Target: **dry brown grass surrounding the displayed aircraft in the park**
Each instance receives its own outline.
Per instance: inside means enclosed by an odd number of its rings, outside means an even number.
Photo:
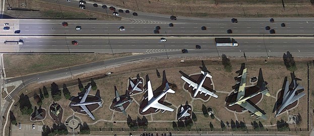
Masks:
[[[216,59],[216,58],[213,58]],[[307,67],[306,67],[306,59],[307,58],[295,58],[296,60],[296,64],[298,67],[298,70],[295,72],[295,75],[297,78],[302,79],[302,81],[298,81],[298,83],[302,86],[304,86],[306,88],[307,86]],[[283,62],[282,62],[282,58],[272,58],[268,61],[268,63],[265,63],[264,58],[250,58],[248,59],[248,61],[246,62],[246,68],[247,68],[247,77],[252,77],[252,76],[258,76],[258,72],[259,72],[259,68],[261,67],[263,70],[263,76],[264,76],[264,80],[266,82],[268,82],[268,88],[270,90],[270,93],[272,96],[274,96],[276,94],[276,92],[282,87],[282,83],[283,83],[283,79],[284,77],[288,77],[288,80],[290,79],[290,73],[289,71],[286,70],[286,68],[283,66]],[[307,59],[307,61],[311,60]],[[142,75],[146,75],[148,74],[150,77],[150,80],[152,81],[152,86],[153,89],[156,89],[158,86],[160,86],[162,78],[157,78],[156,76],[156,69],[159,70],[159,72],[161,72],[162,70],[166,71],[167,74],[167,80],[171,83],[175,83],[178,87],[178,91],[175,94],[167,94],[166,97],[166,101],[169,101],[170,103],[172,103],[175,106],[179,106],[180,104],[185,104],[186,101],[189,102],[189,104],[191,104],[193,106],[193,111],[194,112],[198,112],[196,113],[198,121],[196,122],[197,127],[201,127],[201,128],[209,128],[209,123],[212,122],[212,124],[214,125],[214,128],[220,128],[220,121],[218,119],[211,119],[210,117],[206,118],[204,117],[203,113],[202,113],[202,104],[205,104],[206,107],[212,107],[213,109],[215,109],[216,113],[215,116],[219,119],[222,119],[225,123],[228,121],[229,123],[231,122],[231,119],[236,121],[238,120],[240,121],[245,121],[246,124],[248,124],[248,128],[252,128],[252,126],[250,126],[250,122],[253,122],[255,120],[255,117],[249,117],[248,112],[242,113],[242,114],[236,114],[236,116],[234,115],[233,112],[227,111],[225,109],[225,102],[224,99],[227,96],[227,94],[219,94],[218,98],[211,98],[208,102],[203,102],[201,100],[194,100],[192,102],[191,97],[187,94],[187,92],[184,92],[182,90],[182,85],[183,82],[182,80],[179,78],[180,77],[180,73],[178,73],[179,70],[185,72],[186,74],[191,74],[194,72],[199,72],[199,65],[201,65],[201,61],[197,61],[197,60],[186,60],[184,63],[179,63],[179,59],[170,59],[167,61],[159,61],[159,59],[153,60],[154,63],[134,63],[134,64],[130,64],[130,65],[125,65],[125,66],[120,66],[120,67],[115,67],[114,69],[108,69],[108,70],[103,70],[100,71],[99,73],[104,73],[105,71],[111,71],[114,72],[113,74],[111,74],[108,77],[105,77],[103,79],[100,80],[96,80],[96,84],[97,84],[97,89],[100,90],[100,96],[102,97],[102,100],[104,100],[103,103],[103,107],[97,109],[96,111],[93,112],[94,116],[96,119],[105,119],[108,120],[109,122],[103,122],[103,121],[99,121],[98,123],[96,123],[95,125],[91,125],[91,128],[96,128],[96,127],[105,127],[105,128],[128,128],[126,123],[116,123],[116,124],[112,124],[111,122],[113,121],[126,121],[127,120],[127,116],[121,114],[121,113],[117,113],[114,112],[114,117],[113,117],[113,111],[109,110],[109,106],[111,104],[112,99],[114,98],[114,91],[113,91],[113,86],[117,86],[118,91],[122,94],[122,92],[124,92],[124,89],[127,88],[128,82],[127,79],[129,77],[135,77],[135,75],[137,75],[138,73],[142,76]],[[242,60],[237,60],[237,59],[233,59],[231,60],[232,66],[233,66],[233,70],[232,73],[226,73],[224,71],[222,71],[222,65],[218,64],[218,62],[212,62],[212,61],[205,61],[205,64],[207,65],[208,70],[211,72],[211,75],[213,76],[213,81],[215,84],[215,87],[217,90],[221,90],[221,91],[231,91],[231,86],[234,84],[234,79],[233,77],[237,76],[237,74],[235,74],[235,71],[237,71],[241,65],[243,61]],[[312,66],[312,64],[311,64]],[[98,72],[97,72],[98,73]],[[94,73],[94,74],[97,74]],[[311,79],[314,79],[314,75],[312,73],[313,70],[310,69],[310,73],[311,73]],[[224,76],[224,75],[229,75],[229,76]],[[143,76],[142,76],[143,77]],[[291,81],[291,79],[290,79]],[[146,81],[144,81],[146,82]],[[57,81],[56,84],[59,85],[59,88],[61,87],[62,83],[66,83],[65,81]],[[49,88],[49,84],[50,83],[45,83],[47,84],[46,87]],[[87,83],[83,83],[83,85],[86,85]],[[40,85],[42,86],[42,85]],[[39,85],[33,86],[33,87],[29,87],[28,88],[28,92],[25,92],[26,90],[24,90],[24,93],[30,93],[31,91],[38,91]],[[31,89],[30,89],[31,88]],[[77,92],[79,92],[78,86],[71,86],[68,87],[68,89],[71,92],[71,95],[77,95]],[[310,89],[312,89],[312,86],[310,86]],[[306,91],[306,90],[305,90]],[[23,92],[23,91],[22,91]],[[20,92],[20,93],[22,93]],[[91,91],[91,94],[96,93],[96,91]],[[32,93],[31,93],[32,94]],[[135,98],[136,101],[138,101],[139,103],[141,102],[141,100],[143,99],[143,94],[139,94],[139,95],[135,95],[132,96],[132,98]],[[275,96],[276,97],[276,96]],[[298,112],[301,114],[302,117],[302,121],[300,125],[297,125],[297,128],[306,128],[306,97],[304,96],[300,99],[299,101],[299,105],[292,109],[291,111],[289,111],[289,114],[297,114]],[[48,102],[49,100],[49,102]],[[33,101],[33,99],[31,98],[31,102]],[[272,113],[272,109],[273,109],[273,105],[275,103],[276,99],[272,98],[272,97],[266,97],[264,96],[262,101],[258,104],[258,106],[265,110],[265,112],[267,113],[268,119],[267,120],[263,120],[263,119],[258,119],[257,121],[261,121],[263,123],[263,125],[267,128],[276,128],[275,127],[271,127],[271,124],[276,124],[277,120],[283,119],[283,120],[288,120],[288,116],[287,114],[282,114],[279,117],[274,118],[274,114]],[[310,102],[313,101],[313,94],[310,94]],[[51,99],[45,99],[43,101],[43,107],[46,107],[46,105],[48,105],[48,103],[51,103]],[[66,119],[67,116],[72,115],[72,111],[69,110],[69,107],[67,105],[69,105],[69,100],[65,100],[64,97],[62,96],[62,99],[60,101],[58,101],[57,103],[61,103],[61,106],[64,107],[66,110],[65,112],[65,116],[63,117],[63,119]],[[35,104],[34,104],[35,105]],[[34,106],[33,105],[33,106]],[[128,107],[127,109],[127,113],[133,118],[136,119],[137,117],[142,118],[143,116],[140,115],[138,113],[138,108],[139,106],[134,102],[132,104],[130,104],[131,107]],[[173,106],[170,106],[171,108],[174,108]],[[68,110],[67,110],[68,109]],[[175,109],[176,111],[177,109]],[[313,107],[310,107],[310,111],[313,110]],[[19,108],[18,107],[14,107],[14,112],[17,113],[16,117],[17,118],[21,118],[21,122],[28,122],[29,117],[27,116],[22,116],[22,115],[18,115],[18,113],[20,113]],[[76,114],[78,116],[80,116],[84,121],[86,121],[87,123],[93,123],[94,121],[91,120],[90,118],[88,118],[87,115],[79,115]],[[312,115],[310,114],[310,120],[311,120]],[[111,118],[113,118],[111,120]],[[146,118],[148,120],[151,120],[151,115],[146,115]],[[165,112],[165,113],[161,113],[158,112],[156,114],[152,115],[152,118],[154,121],[158,121],[158,120],[175,120],[176,115],[175,112]],[[237,118],[237,119],[236,119]],[[46,124],[48,125],[52,125],[52,121],[50,118],[47,118],[48,120],[45,121]],[[50,119],[50,121],[49,121]],[[312,122],[312,121],[310,121]],[[156,125],[155,125],[156,124]],[[171,122],[164,122],[164,123],[149,123],[149,128],[164,128],[164,127],[170,127],[171,128],[172,124]],[[192,126],[192,127],[195,127]],[[290,128],[293,128],[293,125],[290,125]]]

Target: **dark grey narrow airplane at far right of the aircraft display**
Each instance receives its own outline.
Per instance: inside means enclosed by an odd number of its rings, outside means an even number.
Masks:
[[[282,112],[282,110],[284,110],[288,105],[294,103],[295,101],[299,100],[301,97],[305,95],[305,93],[303,92],[304,87],[296,83],[296,81],[300,81],[300,79],[295,78],[294,72],[290,73],[290,75],[292,80],[290,85],[289,81],[287,80],[287,77],[285,77],[284,80],[284,84],[282,87],[284,89],[282,101],[278,99],[277,102],[275,103],[273,109],[273,113],[277,111],[275,117],[277,117]],[[278,107],[278,105],[280,106]]]

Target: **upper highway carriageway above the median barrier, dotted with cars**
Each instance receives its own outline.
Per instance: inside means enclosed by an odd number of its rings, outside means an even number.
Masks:
[[[308,19],[309,20],[309,19]],[[310,19],[312,20],[312,19]],[[68,26],[61,25],[68,22]],[[10,23],[10,30],[0,30],[1,35],[313,35],[314,21],[306,20],[283,20],[270,23],[267,19],[260,18],[247,19],[231,23],[230,19],[213,19],[211,21],[184,23],[184,22],[158,22],[148,20],[125,20],[125,21],[96,21],[96,20],[2,20],[2,23]],[[173,27],[169,27],[173,23]],[[285,27],[281,27],[285,23]],[[76,30],[76,26],[81,26],[82,30]],[[125,31],[119,31],[123,26]],[[159,34],[154,34],[155,27],[159,26]],[[205,26],[206,30],[201,27]],[[275,34],[270,34],[265,27],[269,26],[275,30]],[[227,34],[231,29],[232,34]],[[20,34],[15,34],[16,30],[21,30]]]

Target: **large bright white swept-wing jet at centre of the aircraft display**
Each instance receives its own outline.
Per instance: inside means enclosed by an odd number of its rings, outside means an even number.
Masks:
[[[163,71],[163,76],[164,76],[164,78],[166,77],[165,71]],[[147,79],[148,79],[148,75],[147,75]],[[143,108],[142,113],[147,111],[149,108],[156,108],[155,112],[158,109],[164,110],[163,112],[165,112],[166,110],[172,112],[174,110],[174,109],[169,108],[169,107],[167,107],[167,106],[165,106],[163,104],[158,103],[158,101],[162,97],[164,97],[167,93],[172,93],[172,94],[175,93],[175,91],[170,89],[168,81],[166,81],[166,87],[165,87],[164,91],[159,96],[154,97],[151,81],[148,79],[148,82],[147,82],[147,92],[148,92],[148,104]]]

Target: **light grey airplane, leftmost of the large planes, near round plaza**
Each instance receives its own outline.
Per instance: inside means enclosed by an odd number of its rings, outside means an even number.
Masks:
[[[102,107],[102,105],[101,105],[102,101],[100,100],[100,101],[97,101],[97,102],[85,102],[85,100],[86,100],[86,98],[87,98],[91,88],[92,88],[92,85],[89,83],[89,87],[88,87],[88,89],[85,89],[85,94],[84,94],[83,98],[80,97],[80,99],[81,99],[80,103],[71,104],[71,106],[81,106],[81,108],[83,109],[83,110],[81,110],[81,112],[85,111],[89,115],[89,117],[91,117],[93,120],[95,120],[95,117],[88,110],[86,105],[91,105],[91,104],[96,104],[97,103],[97,104],[99,104],[100,107]]]

